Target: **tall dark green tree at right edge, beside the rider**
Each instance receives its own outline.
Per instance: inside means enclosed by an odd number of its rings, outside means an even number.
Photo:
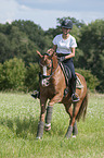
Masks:
[[[104,78],[104,21],[96,20],[81,28],[79,49],[83,54],[79,57],[79,66],[91,70],[100,80],[102,87]],[[102,89],[103,90],[103,89]]]

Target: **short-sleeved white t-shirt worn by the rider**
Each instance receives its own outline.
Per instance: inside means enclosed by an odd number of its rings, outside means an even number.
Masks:
[[[75,37],[69,35],[67,39],[63,39],[63,34],[56,35],[54,37],[53,45],[57,46],[57,53],[72,53],[72,48],[77,47]]]

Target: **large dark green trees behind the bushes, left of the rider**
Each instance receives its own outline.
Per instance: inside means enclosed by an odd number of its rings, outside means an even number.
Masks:
[[[11,25],[0,25],[0,62],[17,57],[26,65],[38,62],[36,50],[46,52],[52,47],[50,36],[30,21],[14,21]]]

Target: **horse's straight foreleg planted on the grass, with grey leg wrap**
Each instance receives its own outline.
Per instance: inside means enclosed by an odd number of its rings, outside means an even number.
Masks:
[[[43,127],[44,127],[44,114],[46,114],[46,102],[40,102],[41,106],[41,112],[40,112],[40,121],[38,123],[38,130],[37,130],[37,137],[38,139],[42,138],[43,135]]]

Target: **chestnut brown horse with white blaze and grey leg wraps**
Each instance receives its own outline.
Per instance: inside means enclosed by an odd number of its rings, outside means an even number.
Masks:
[[[76,104],[72,101],[72,90],[64,96],[64,89],[66,88],[65,76],[58,64],[56,53],[53,49],[50,49],[43,56],[37,51],[40,58],[40,120],[38,123],[37,138],[41,138],[43,135],[43,127],[46,131],[51,130],[52,109],[54,104],[63,104],[66,112],[69,114],[69,126],[67,129],[66,137],[69,138],[76,136],[78,133],[76,120],[79,121],[81,116],[86,117],[88,106],[88,93],[86,80],[82,75],[76,73],[79,77],[82,88],[76,89],[80,100]],[[48,107],[47,107],[47,101]],[[74,107],[73,107],[74,105]],[[47,113],[46,113],[47,111]],[[46,120],[46,124],[44,124]]]

